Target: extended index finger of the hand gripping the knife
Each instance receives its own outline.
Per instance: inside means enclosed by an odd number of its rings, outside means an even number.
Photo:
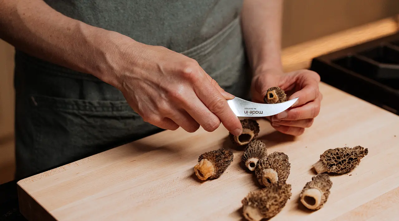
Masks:
[[[220,119],[228,131],[233,135],[241,135],[243,131],[241,122],[227,104],[226,99],[209,80],[196,82],[194,91],[199,100]]]

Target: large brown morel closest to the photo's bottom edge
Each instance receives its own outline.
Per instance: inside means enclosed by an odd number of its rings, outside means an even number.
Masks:
[[[249,221],[274,217],[291,197],[290,184],[272,184],[268,188],[250,192],[242,201],[243,215]]]

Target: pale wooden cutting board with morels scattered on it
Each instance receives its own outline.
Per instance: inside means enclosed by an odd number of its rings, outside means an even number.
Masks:
[[[284,152],[291,163],[292,197],[273,221],[397,220],[399,215],[399,117],[326,84],[322,110],[299,137],[276,132],[259,120],[268,153]],[[218,179],[201,182],[198,156],[231,148],[221,126],[164,131],[18,182],[20,209],[32,220],[243,220],[241,199],[259,188],[240,164],[242,151]],[[310,212],[298,204],[312,164],[326,149],[361,145],[369,149],[352,172],[332,176],[324,207]]]

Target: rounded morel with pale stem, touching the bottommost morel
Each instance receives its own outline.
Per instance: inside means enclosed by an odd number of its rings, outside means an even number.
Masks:
[[[291,164],[284,153],[274,152],[259,160],[255,166],[255,175],[262,186],[273,183],[283,184],[290,175]]]

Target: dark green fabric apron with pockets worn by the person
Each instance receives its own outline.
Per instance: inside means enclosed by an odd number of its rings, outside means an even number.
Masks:
[[[196,59],[227,92],[249,99],[241,0],[46,2],[71,18]],[[21,51],[15,61],[17,179],[162,131],[92,75]]]

